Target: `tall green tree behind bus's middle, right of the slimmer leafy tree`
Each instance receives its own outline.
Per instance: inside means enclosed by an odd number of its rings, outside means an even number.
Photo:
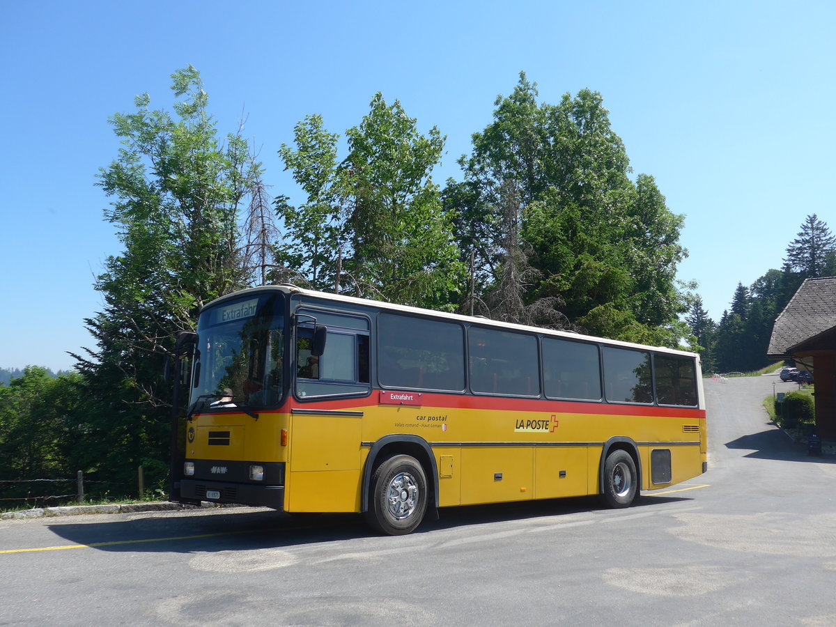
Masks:
[[[445,138],[435,126],[422,135],[400,102],[386,104],[381,94],[346,135],[356,291],[445,308],[463,276],[452,222],[431,178]]]

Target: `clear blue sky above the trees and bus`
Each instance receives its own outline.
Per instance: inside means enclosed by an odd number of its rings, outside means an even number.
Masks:
[[[833,211],[836,4],[775,2],[82,2],[0,0],[3,181],[0,367],[66,369],[92,344],[92,288],[119,252],[94,186],[135,94],[171,108],[193,64],[224,133],[260,149],[273,194],[298,194],[276,150],[319,113],[343,134],[382,91],[447,154],[490,121],[520,70],[540,98],[604,96],[635,174],[686,216],[683,280],[713,319],[738,282],[780,268],[805,216]]]

